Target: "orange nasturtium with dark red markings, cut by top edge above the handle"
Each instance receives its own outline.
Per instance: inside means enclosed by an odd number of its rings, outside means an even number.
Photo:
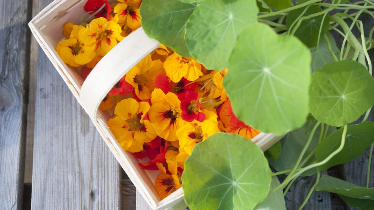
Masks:
[[[119,17],[118,23],[126,22],[126,25],[135,30],[141,25],[141,17],[139,13],[139,7],[141,0],[118,0],[123,2],[119,3],[114,7],[114,13]]]

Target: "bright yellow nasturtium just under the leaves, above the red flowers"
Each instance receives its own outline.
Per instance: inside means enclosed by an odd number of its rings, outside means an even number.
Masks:
[[[202,76],[201,65],[194,59],[182,57],[174,52],[163,63],[163,67],[171,81],[179,82],[183,77],[194,81]]]

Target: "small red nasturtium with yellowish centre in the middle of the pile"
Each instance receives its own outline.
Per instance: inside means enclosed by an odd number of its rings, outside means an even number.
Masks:
[[[202,112],[203,109],[195,91],[186,93],[186,98],[181,101],[181,110],[181,117],[187,122],[192,122],[193,120],[203,122],[205,120],[205,114]]]

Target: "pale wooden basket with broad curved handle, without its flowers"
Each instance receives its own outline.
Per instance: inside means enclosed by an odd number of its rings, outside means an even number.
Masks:
[[[143,29],[139,28],[109,51],[84,81],[76,68],[66,65],[61,60],[55,47],[64,38],[62,25],[65,22],[78,23],[85,13],[83,6],[86,1],[53,1],[30,21],[31,32],[149,206],[152,209],[172,207],[183,200],[183,189],[180,188],[160,200],[154,187],[157,173],[142,169],[139,166],[139,160],[122,149],[108,128],[107,122],[110,115],[98,110],[100,102],[114,84],[160,43],[148,38]],[[274,134],[260,133],[252,141],[264,151],[280,138]]]

